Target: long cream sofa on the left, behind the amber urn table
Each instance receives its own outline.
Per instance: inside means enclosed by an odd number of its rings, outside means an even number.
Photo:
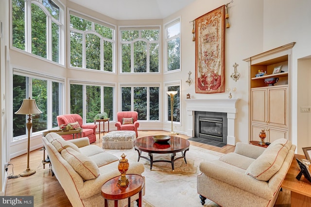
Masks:
[[[87,137],[65,141],[51,132],[42,140],[51,160],[52,171],[72,206],[103,207],[101,188],[104,182],[120,175],[119,159],[97,145],[90,145]],[[127,174],[141,175],[143,172],[143,164],[135,162],[130,163]],[[131,197],[132,201],[137,199],[138,194]],[[127,202],[127,199],[123,199],[119,201],[119,206],[124,207]],[[110,206],[113,206],[113,201],[109,201]]]

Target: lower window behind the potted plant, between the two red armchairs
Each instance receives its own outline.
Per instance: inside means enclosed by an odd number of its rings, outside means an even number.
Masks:
[[[70,113],[83,117],[85,123],[94,122],[97,113],[106,112],[113,120],[114,87],[91,84],[70,84]]]

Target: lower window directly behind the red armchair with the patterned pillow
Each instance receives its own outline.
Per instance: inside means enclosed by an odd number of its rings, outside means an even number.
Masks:
[[[122,111],[137,111],[138,120],[159,120],[159,86],[121,86]]]

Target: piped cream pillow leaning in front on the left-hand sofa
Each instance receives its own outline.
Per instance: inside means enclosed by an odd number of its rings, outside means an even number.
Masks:
[[[61,152],[62,157],[68,161],[72,168],[84,179],[91,180],[100,175],[96,163],[87,156],[67,147]]]

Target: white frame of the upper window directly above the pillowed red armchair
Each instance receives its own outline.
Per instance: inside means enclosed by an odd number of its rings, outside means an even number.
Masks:
[[[159,31],[159,39],[156,41],[148,41],[141,37],[138,37],[132,41],[122,41],[121,31],[142,31],[142,30],[158,30]],[[119,42],[119,73],[120,74],[160,74],[161,73],[161,25],[149,25],[149,26],[119,26],[118,28],[118,42]],[[146,72],[134,72],[134,43],[138,41],[143,41],[147,43],[147,68]],[[131,45],[131,72],[126,73],[122,72],[122,44],[129,43]],[[158,71],[157,72],[150,72],[150,44],[158,44]]]

